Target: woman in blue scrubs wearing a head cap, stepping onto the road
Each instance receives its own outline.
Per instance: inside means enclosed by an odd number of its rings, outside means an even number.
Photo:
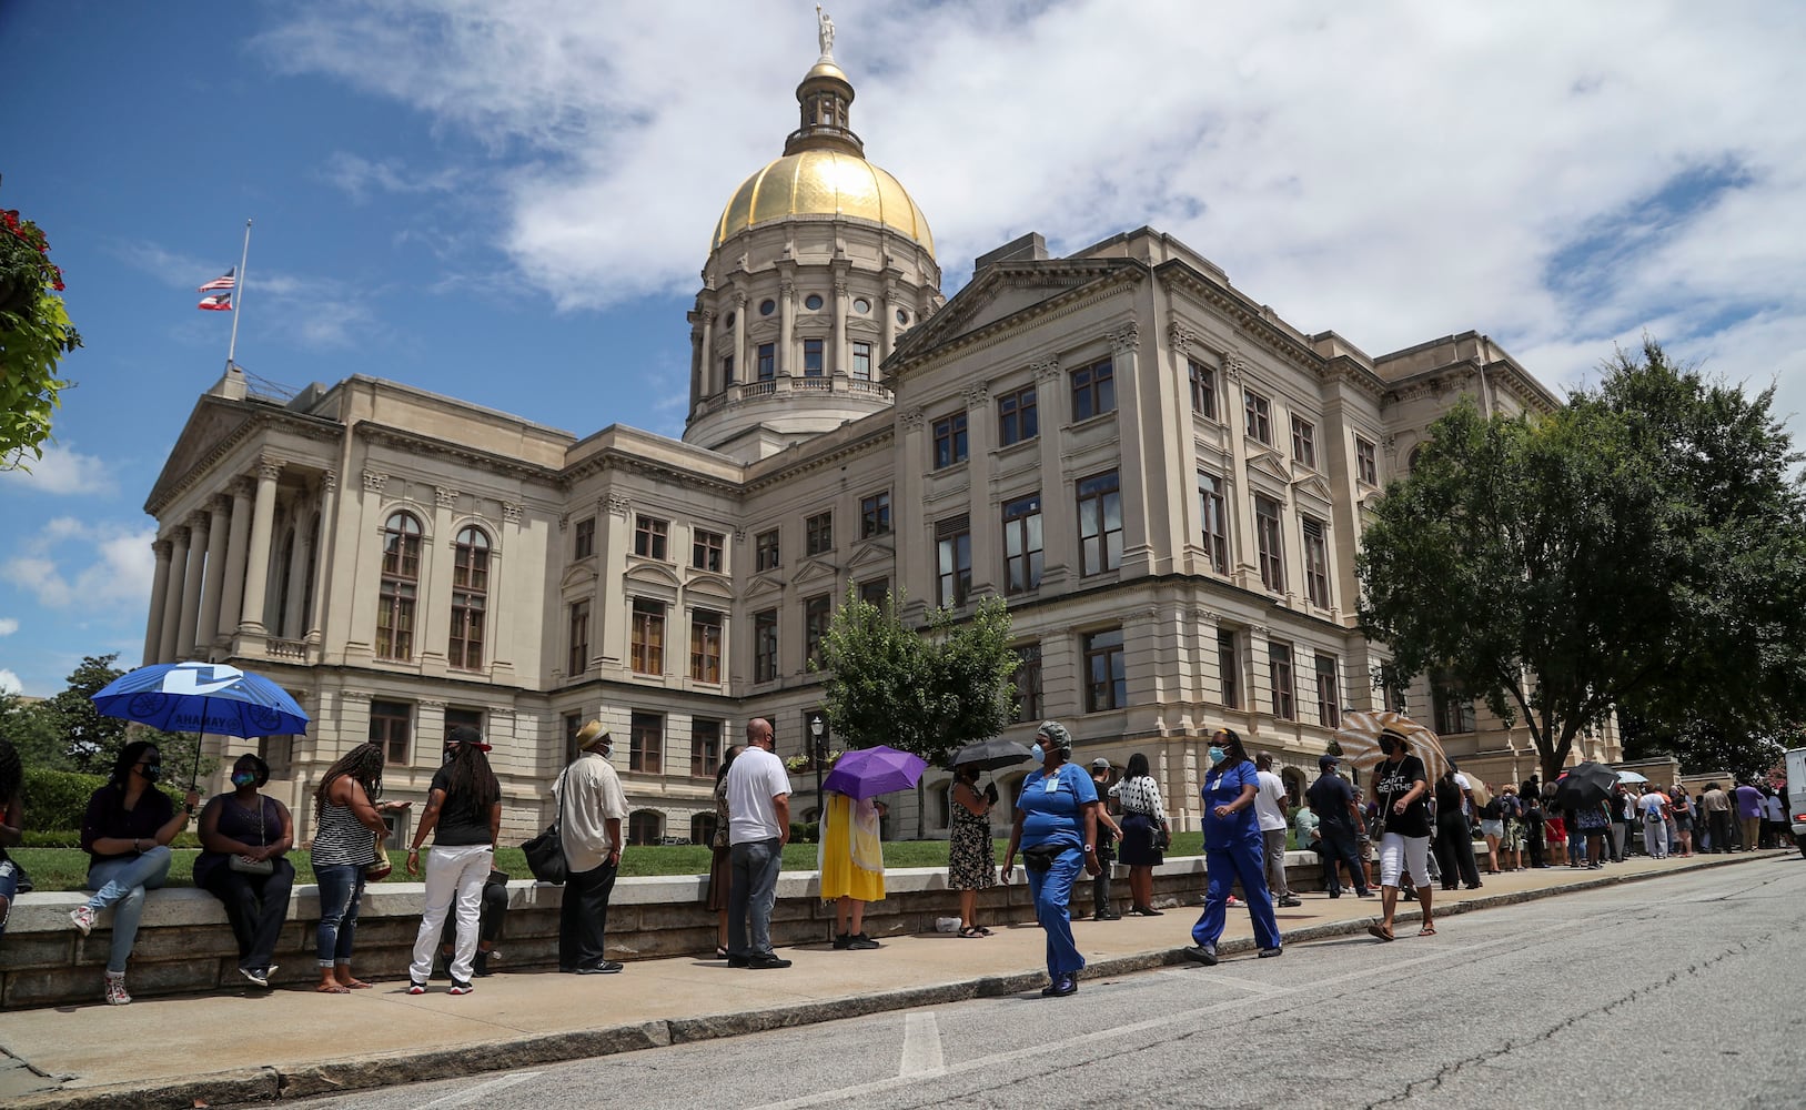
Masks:
[[[1035,919],[1047,933],[1047,998],[1066,998],[1078,989],[1085,957],[1073,942],[1073,919],[1066,904],[1073,895],[1078,868],[1098,874],[1098,789],[1084,769],[1075,767],[1073,735],[1058,720],[1042,722],[1035,733],[1040,771],[1022,780],[1010,850],[1004,852],[1002,881],[1010,881],[1017,848],[1028,872],[1028,890],[1035,895]]]

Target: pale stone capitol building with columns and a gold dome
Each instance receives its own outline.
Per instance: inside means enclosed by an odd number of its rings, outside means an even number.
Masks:
[[[144,505],[144,662],[231,662],[296,695],[312,731],[224,751],[264,753],[302,841],[352,745],[385,745],[386,796],[423,798],[446,729],[475,724],[517,843],[592,717],[632,841],[703,839],[751,717],[805,753],[807,661],[849,588],[899,592],[912,623],[1004,597],[1006,735],[1053,717],[1082,762],[1147,753],[1181,828],[1210,729],[1297,791],[1340,713],[1378,706],[1385,646],[1354,619],[1365,513],[1459,399],[1559,399],[1483,334],[1369,356],[1300,330],[1150,227],[1062,258],[1026,235],[948,298],[928,215],[865,159],[829,47],[782,155],[713,217],[681,440],[365,375],[284,399],[228,368],[195,402]],[[1528,731],[1461,691],[1398,698],[1485,778],[1535,769]],[[1616,756],[1609,733],[1584,747]],[[945,778],[887,834],[946,836]],[[796,785],[809,818],[813,772]]]

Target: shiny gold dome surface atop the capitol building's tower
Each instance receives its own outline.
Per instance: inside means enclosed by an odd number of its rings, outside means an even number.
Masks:
[[[710,249],[755,224],[804,215],[852,217],[883,224],[934,254],[928,220],[898,179],[861,157],[838,150],[791,153],[748,177],[721,213]]]

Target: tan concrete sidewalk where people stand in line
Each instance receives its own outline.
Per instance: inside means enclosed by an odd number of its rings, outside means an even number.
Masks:
[[[1438,919],[1790,854],[1634,857],[1602,872],[1560,866],[1485,875],[1483,890],[1438,890]],[[1279,915],[1284,958],[1309,960],[1306,942],[1364,931],[1378,902],[1353,893],[1304,895],[1302,908]],[[1196,915],[1196,906],[1176,906],[1163,917],[1075,922],[1091,964],[1085,978],[1181,962]],[[1409,913],[1400,906],[1405,920],[1416,920],[1416,902]],[[1459,931],[1454,924],[1441,935]],[[1400,928],[1401,939],[1412,933]],[[1224,955],[1252,948],[1248,915],[1232,910]],[[811,944],[780,955],[795,966],[739,971],[712,958],[666,958],[632,962],[607,976],[500,973],[477,980],[477,991],[461,998],[446,994],[444,980],[424,996],[410,996],[401,976],[352,994],[284,989],[5,1013],[0,1103],[126,1108],[273,1101],[945,1005],[1038,991],[1047,982],[1042,931],[1031,924],[982,940],[932,933],[889,937],[880,951]]]

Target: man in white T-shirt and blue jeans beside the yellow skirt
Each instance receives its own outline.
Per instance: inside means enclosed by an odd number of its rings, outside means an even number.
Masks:
[[[789,967],[771,951],[771,908],[789,843],[789,774],[771,754],[771,722],[746,722],[746,751],[728,767],[728,850],[733,883],[728,893],[728,966]],[[751,937],[748,937],[751,933]]]

